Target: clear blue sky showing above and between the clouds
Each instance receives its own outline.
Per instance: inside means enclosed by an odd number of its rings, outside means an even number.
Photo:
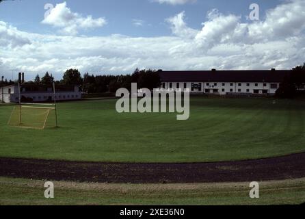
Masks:
[[[43,20],[44,5],[51,3],[56,5],[63,1],[52,0],[17,0],[7,1],[0,5],[0,20],[11,23],[23,31],[33,31],[40,34],[48,34],[54,29],[41,24]],[[85,2],[85,3],[84,3]],[[224,14],[233,13],[245,16],[250,12],[249,5],[253,0],[199,0],[196,3],[183,5],[160,4],[150,0],[67,0],[67,6],[72,12],[92,15],[93,18],[104,17],[107,25],[103,28],[84,31],[81,34],[87,36],[107,36],[110,34],[122,34],[127,36],[168,36],[171,34],[170,27],[165,19],[185,11],[189,27],[200,28],[201,23],[206,21],[209,10],[217,8]],[[274,8],[280,1],[261,0],[255,1],[260,5],[261,11]],[[14,16],[12,16],[14,14]],[[263,16],[263,14],[262,14]],[[133,25],[133,20],[144,21],[143,26]]]

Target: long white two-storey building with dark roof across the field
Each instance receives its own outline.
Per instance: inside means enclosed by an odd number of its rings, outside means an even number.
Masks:
[[[185,70],[158,71],[161,88],[202,94],[274,95],[291,70]]]

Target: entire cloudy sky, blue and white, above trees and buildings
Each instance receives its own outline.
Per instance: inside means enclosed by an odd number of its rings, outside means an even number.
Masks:
[[[304,21],[304,0],[3,1],[0,75],[287,69],[305,62]]]

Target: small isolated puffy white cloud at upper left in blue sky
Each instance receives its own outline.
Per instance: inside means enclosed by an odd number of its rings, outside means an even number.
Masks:
[[[76,35],[82,29],[103,27],[107,21],[105,18],[94,19],[91,15],[84,17],[81,14],[71,12],[70,8],[66,6],[66,2],[64,2],[58,3],[42,23],[60,28],[62,34]]]

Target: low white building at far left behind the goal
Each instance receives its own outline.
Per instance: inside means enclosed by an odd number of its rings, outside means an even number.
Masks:
[[[21,101],[24,102],[51,102],[54,101],[52,86],[38,86],[26,84],[21,86]],[[81,99],[79,86],[56,86],[56,101],[72,101]],[[18,103],[18,85],[0,88],[0,101],[3,103]]]

